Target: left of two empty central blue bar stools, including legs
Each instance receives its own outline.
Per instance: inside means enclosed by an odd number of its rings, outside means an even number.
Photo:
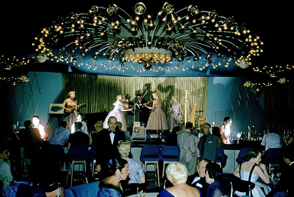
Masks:
[[[158,186],[160,186],[159,183],[159,165],[158,161],[160,161],[160,145],[145,145],[141,149],[141,154],[140,154],[140,161],[141,161],[141,166],[143,167],[144,163],[144,172],[146,172],[146,166],[148,164],[153,164],[154,165],[154,177],[157,177],[158,181]],[[157,173],[156,173],[157,171]],[[155,181],[156,185],[156,179],[148,179],[148,181]]]

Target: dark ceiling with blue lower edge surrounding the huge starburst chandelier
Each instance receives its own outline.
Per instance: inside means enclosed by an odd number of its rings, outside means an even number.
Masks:
[[[42,28],[48,26],[58,16],[68,16],[71,12],[85,12],[92,5],[107,6],[108,4],[116,4],[117,6],[131,12],[133,6],[143,2],[146,5],[147,13],[156,15],[166,1],[108,1],[99,3],[78,1],[7,1],[7,6],[1,6],[1,48],[0,55],[13,56],[24,55],[30,56],[34,54],[34,48],[31,43],[39,34]],[[70,65],[70,69],[74,73],[93,73],[102,75],[125,75],[125,76],[162,76],[162,77],[177,77],[177,76],[250,76],[254,77],[256,72],[252,72],[252,68],[264,65],[293,65],[291,46],[293,46],[293,38],[291,33],[291,23],[293,20],[292,7],[288,1],[279,1],[275,4],[268,4],[257,1],[169,1],[176,10],[183,7],[195,4],[200,10],[216,10],[221,16],[234,16],[235,21],[244,23],[246,27],[260,36],[264,42],[263,50],[260,57],[252,61],[252,65],[246,69],[237,66],[228,68],[210,69],[199,71],[198,68],[189,69],[185,72],[180,70],[166,71],[145,71],[145,73],[131,72],[131,69],[123,72],[117,70],[101,70],[95,71],[87,69],[86,66],[77,67]],[[182,3],[183,2],[183,3]],[[266,5],[265,5],[266,4]],[[32,60],[34,62],[34,60]],[[44,63],[33,63],[26,65],[23,68],[17,68],[9,72],[29,72],[29,71],[44,71],[44,72],[60,72],[67,73],[69,65],[57,64],[51,61]],[[209,74],[209,75],[207,75]]]

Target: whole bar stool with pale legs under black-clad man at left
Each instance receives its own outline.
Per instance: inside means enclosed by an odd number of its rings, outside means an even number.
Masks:
[[[71,170],[71,186],[73,182],[74,176],[74,166],[75,165],[82,165],[82,175],[83,179],[75,179],[75,180],[83,180],[84,183],[87,183],[86,179],[86,163],[89,161],[89,149],[88,145],[71,145],[69,149],[69,169],[67,171],[66,177],[66,186],[69,179],[69,171]]]

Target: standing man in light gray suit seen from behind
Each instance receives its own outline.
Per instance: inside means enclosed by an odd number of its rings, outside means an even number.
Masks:
[[[180,162],[188,169],[188,176],[191,176],[197,169],[197,157],[199,149],[195,143],[195,136],[191,134],[192,122],[186,122],[186,130],[179,133],[177,140],[180,147]]]

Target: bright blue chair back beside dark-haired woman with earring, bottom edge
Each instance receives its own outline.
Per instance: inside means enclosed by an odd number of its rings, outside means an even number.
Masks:
[[[97,196],[100,181],[84,183],[64,190],[64,197],[92,197]]]

